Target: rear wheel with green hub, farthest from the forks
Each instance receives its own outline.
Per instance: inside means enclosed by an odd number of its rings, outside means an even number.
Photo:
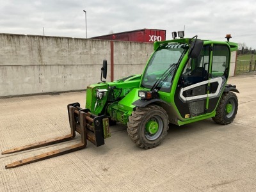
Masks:
[[[217,124],[227,125],[233,122],[238,109],[237,96],[233,92],[224,92],[221,96],[216,115],[212,120]]]

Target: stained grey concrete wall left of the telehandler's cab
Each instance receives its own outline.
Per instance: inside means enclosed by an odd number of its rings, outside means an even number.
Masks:
[[[140,74],[152,44],[114,42],[114,79]],[[83,90],[100,81],[110,42],[83,38],[0,34],[0,97]]]

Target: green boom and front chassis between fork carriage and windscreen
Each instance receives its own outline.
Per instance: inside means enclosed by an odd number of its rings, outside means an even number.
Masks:
[[[86,108],[90,109],[95,115],[108,115],[112,120],[127,124],[128,118],[135,107],[132,105],[132,102],[140,99],[138,97],[140,81],[141,75],[134,75],[124,80],[120,79],[109,83],[91,84],[86,90]],[[96,94],[98,89],[109,90],[113,86],[122,89],[122,92],[118,94],[118,99],[111,100],[109,103],[107,103],[108,97],[97,99]]]

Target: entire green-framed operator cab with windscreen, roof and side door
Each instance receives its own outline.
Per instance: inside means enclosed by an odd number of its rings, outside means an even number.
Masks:
[[[139,91],[139,97],[165,103],[174,98],[172,102],[182,121],[212,113],[228,79],[227,42],[203,41],[195,36],[155,44],[156,50],[141,78],[144,90]]]

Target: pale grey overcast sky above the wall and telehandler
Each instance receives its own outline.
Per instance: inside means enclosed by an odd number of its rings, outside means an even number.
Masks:
[[[0,0],[0,33],[24,35],[107,35],[136,29],[185,28],[185,36],[244,43],[256,49],[256,3],[254,0]],[[43,29],[44,28],[44,29]]]

